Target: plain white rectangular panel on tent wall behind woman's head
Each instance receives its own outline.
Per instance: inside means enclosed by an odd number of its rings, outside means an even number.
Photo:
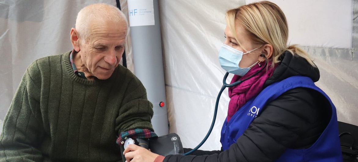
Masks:
[[[246,3],[258,0],[246,0]],[[290,44],[352,47],[351,0],[270,0],[280,6],[289,25]]]

